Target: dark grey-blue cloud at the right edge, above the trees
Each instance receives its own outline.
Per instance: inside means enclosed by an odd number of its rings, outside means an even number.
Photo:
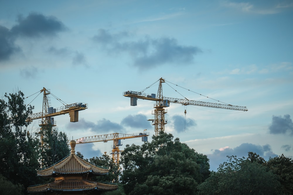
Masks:
[[[271,134],[293,135],[293,122],[289,114],[282,116],[272,116],[272,124],[269,127]]]

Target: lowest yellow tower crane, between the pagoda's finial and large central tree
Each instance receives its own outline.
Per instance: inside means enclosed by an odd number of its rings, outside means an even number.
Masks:
[[[144,131],[146,131],[146,129]],[[113,149],[110,154],[112,154],[114,163],[119,165],[120,152],[122,152],[119,149],[120,146],[122,146],[121,139],[142,137],[142,141],[147,141],[147,136],[149,136],[149,132],[132,133],[132,134],[112,133],[112,134],[105,134],[105,135],[82,137],[82,138],[76,139],[75,141],[76,141],[76,144],[84,144],[84,143],[91,143],[91,142],[98,142],[98,141],[107,142],[107,141],[113,140],[113,146],[112,146]]]

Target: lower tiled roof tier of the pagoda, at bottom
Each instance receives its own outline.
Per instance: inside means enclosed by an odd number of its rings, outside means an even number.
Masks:
[[[84,191],[84,190],[116,190],[117,184],[92,182],[84,179],[57,180],[48,184],[28,187],[28,192],[50,191]]]

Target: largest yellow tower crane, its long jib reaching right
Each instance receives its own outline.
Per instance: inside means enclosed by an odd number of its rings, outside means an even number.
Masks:
[[[127,91],[123,92],[123,96],[130,97],[130,105],[131,106],[137,106],[137,99],[145,99],[145,100],[151,100],[156,101],[156,104],[154,104],[154,119],[150,119],[153,123],[152,125],[155,126],[155,135],[158,136],[160,131],[165,130],[165,125],[167,124],[167,120],[165,120],[165,114],[167,113],[166,107],[170,106],[170,103],[179,103],[184,106],[187,105],[193,105],[193,106],[205,106],[205,107],[212,107],[212,108],[223,108],[223,109],[229,109],[229,110],[239,110],[239,111],[248,111],[248,109],[244,106],[232,106],[231,104],[220,104],[220,103],[209,103],[209,102],[203,102],[203,101],[194,101],[194,100],[188,100],[185,99],[177,99],[177,98],[169,98],[163,96],[163,89],[162,89],[162,83],[165,82],[163,78],[160,78],[159,80],[159,89],[157,96],[156,94],[145,94],[142,92],[134,92],[134,91]],[[186,110],[185,110],[186,112]]]

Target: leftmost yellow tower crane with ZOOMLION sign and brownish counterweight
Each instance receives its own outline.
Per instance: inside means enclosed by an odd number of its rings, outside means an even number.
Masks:
[[[42,112],[34,113],[28,115],[28,118],[26,119],[27,122],[32,122],[35,119],[41,119],[39,121],[40,126],[40,147],[42,150],[45,147],[44,143],[44,134],[47,130],[50,130],[52,127],[56,126],[56,121],[54,121],[54,116],[58,115],[64,115],[69,113],[70,116],[70,122],[78,122],[78,112],[83,111],[87,109],[88,105],[86,103],[72,103],[72,104],[64,104],[64,106],[61,106],[60,108],[53,108],[51,106],[51,101],[49,98],[50,89],[46,89],[43,87],[43,89],[40,90],[40,94],[43,93],[43,107]]]

